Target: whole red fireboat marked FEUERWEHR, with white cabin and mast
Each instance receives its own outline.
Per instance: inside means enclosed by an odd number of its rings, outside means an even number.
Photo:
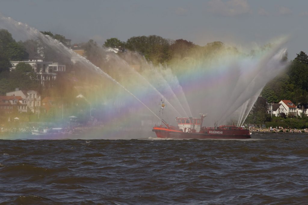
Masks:
[[[162,114],[165,104],[161,104]],[[214,127],[203,127],[202,123],[207,114],[200,114],[200,118],[176,117],[177,126],[169,125],[161,118],[161,124],[152,129],[158,138],[175,139],[248,139],[251,138],[248,129],[236,127],[235,125],[221,125]]]

